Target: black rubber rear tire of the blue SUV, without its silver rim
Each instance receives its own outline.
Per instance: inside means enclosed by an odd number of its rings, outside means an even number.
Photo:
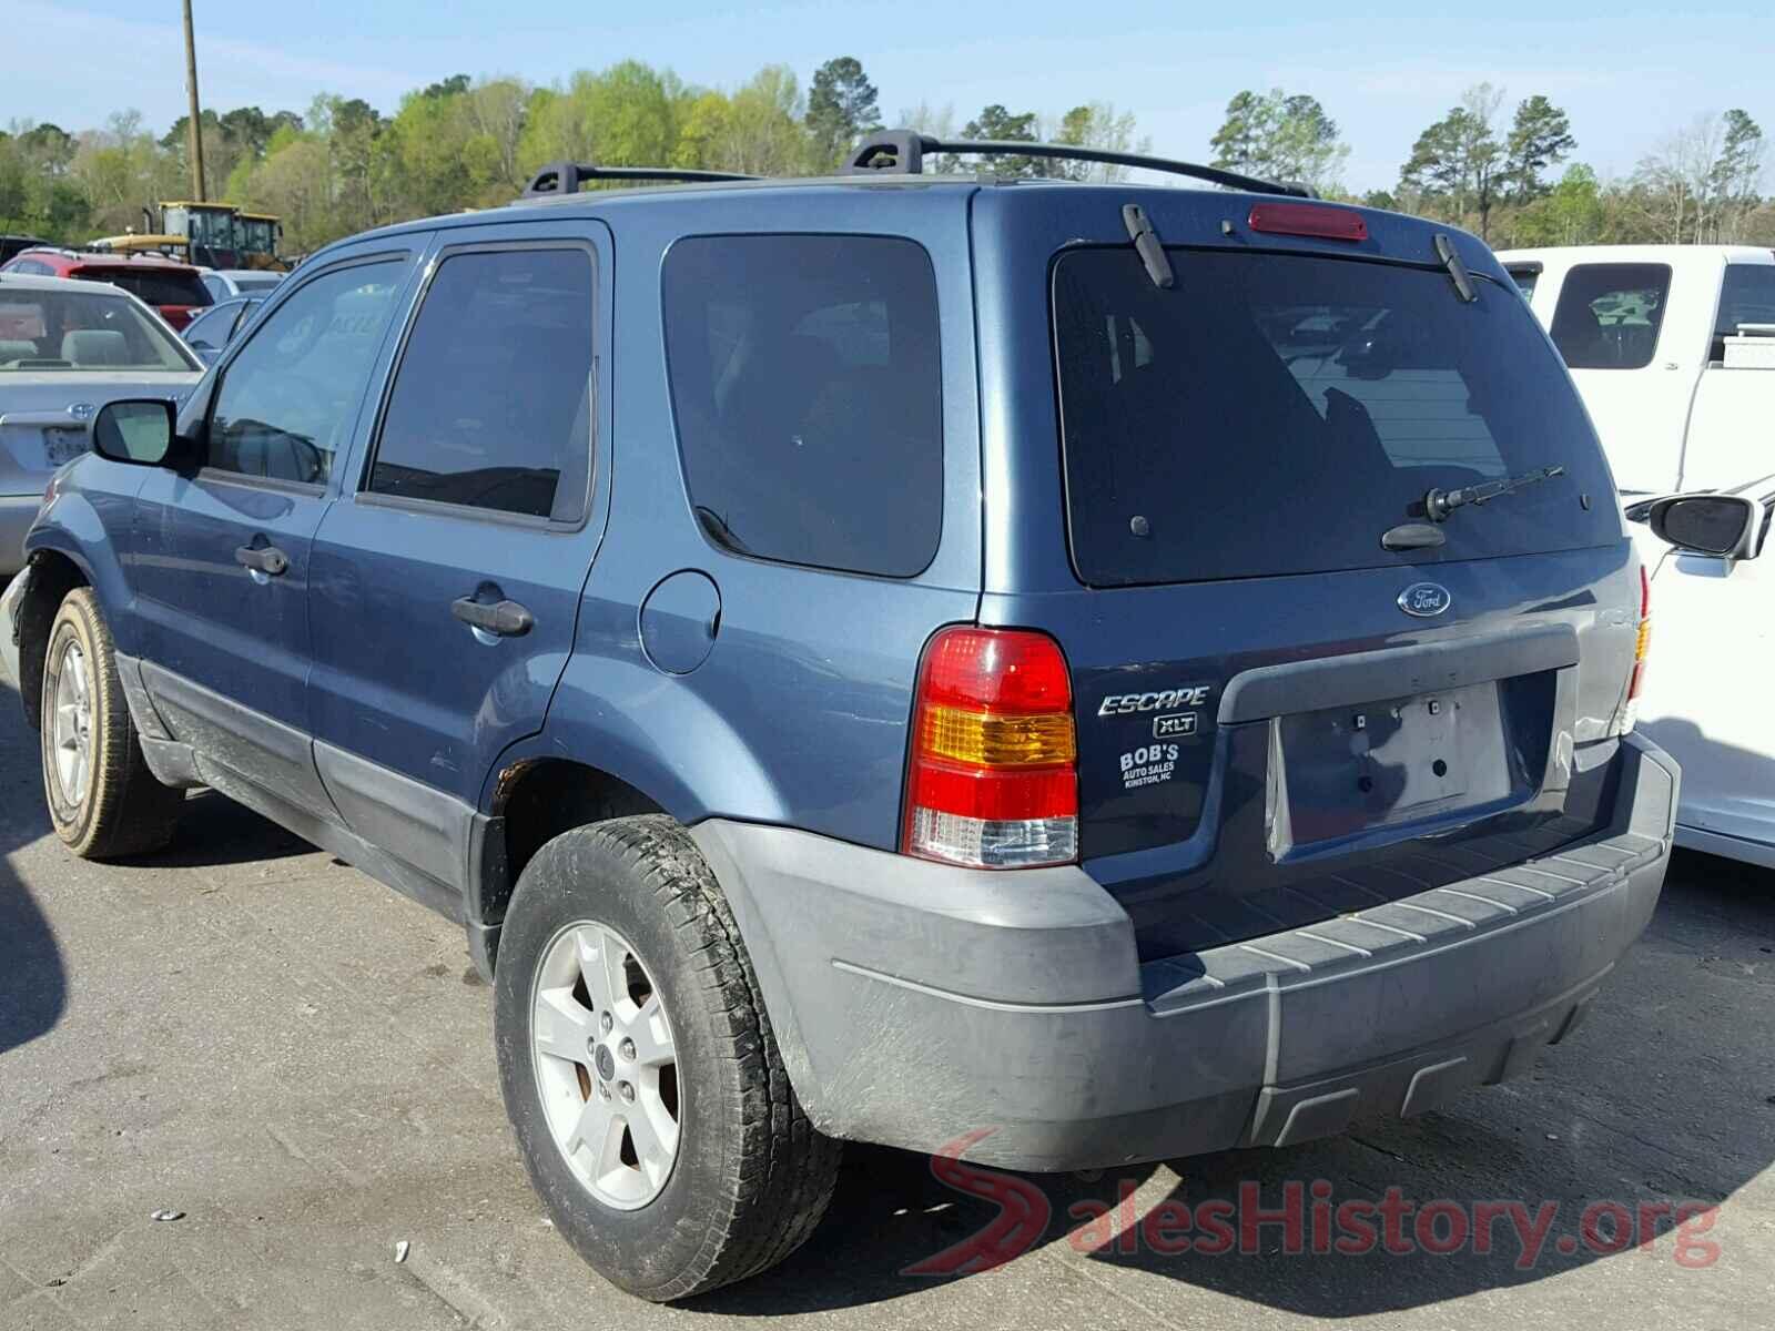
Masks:
[[[674,1036],[676,1161],[637,1210],[607,1205],[579,1180],[538,1091],[536,974],[575,923],[604,925],[634,946]],[[547,843],[518,878],[493,987],[499,1079],[531,1184],[600,1274],[643,1299],[685,1299],[776,1265],[813,1233],[838,1180],[840,1143],[795,1100],[733,912],[673,818],[616,818]]]

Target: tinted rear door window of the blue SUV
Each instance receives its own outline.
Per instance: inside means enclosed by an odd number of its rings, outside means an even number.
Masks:
[[[595,309],[588,250],[447,256],[401,353],[369,490],[584,518]]]

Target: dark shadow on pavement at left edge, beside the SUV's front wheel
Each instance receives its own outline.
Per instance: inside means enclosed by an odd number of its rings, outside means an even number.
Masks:
[[[0,579],[0,591],[5,579]],[[14,852],[50,832],[36,736],[18,712],[18,687],[0,671],[0,1054],[50,1031],[67,1006],[67,969],[43,909],[14,868]],[[27,738],[28,736],[28,738]]]

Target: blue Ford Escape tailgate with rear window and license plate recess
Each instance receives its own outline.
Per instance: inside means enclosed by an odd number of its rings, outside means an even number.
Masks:
[[[1006,586],[982,618],[1044,628],[1069,657],[1081,857],[1143,957],[1397,900],[1601,827],[1638,575],[1594,433],[1516,293],[1480,282],[1459,300],[1424,263],[1429,232],[1400,218],[1369,215],[1370,240],[1342,252],[1253,252],[1219,225],[1250,204],[1131,190],[1166,241],[1196,241],[1173,245],[1161,289],[1116,243],[1116,211],[1092,215],[1109,192],[1051,193],[1047,229],[992,195],[976,213],[1006,213],[1014,243],[982,284],[1006,318],[982,325],[1019,357],[985,362],[985,396],[1003,374],[1017,403],[989,433],[987,476],[1010,481],[1001,504],[1067,518],[1058,550],[1033,525],[998,550],[989,538],[989,584]],[[1496,273],[1477,245],[1468,263]],[[996,469],[998,447],[1017,461]],[[1024,479],[1044,454],[1061,460],[1051,499]],[[1383,547],[1425,524],[1432,488],[1553,465]]]

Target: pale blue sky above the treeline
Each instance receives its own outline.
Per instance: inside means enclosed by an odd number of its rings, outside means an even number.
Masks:
[[[1775,21],[1763,4],[1424,0],[1189,4],[596,4],[579,0],[195,0],[204,105],[304,110],[316,92],[383,112],[453,73],[534,83],[623,59],[731,89],[763,64],[806,83],[854,55],[882,117],[921,103],[955,126],[1001,101],[1058,117],[1085,101],[1134,112],[1152,151],[1209,158],[1241,89],[1324,103],[1351,146],[1345,185],[1392,186],[1418,131],[1491,82],[1564,106],[1578,158],[1608,179],[1699,117],[1741,106],[1775,138]],[[0,126],[101,126],[122,108],[163,130],[185,112],[178,0],[0,0]]]

